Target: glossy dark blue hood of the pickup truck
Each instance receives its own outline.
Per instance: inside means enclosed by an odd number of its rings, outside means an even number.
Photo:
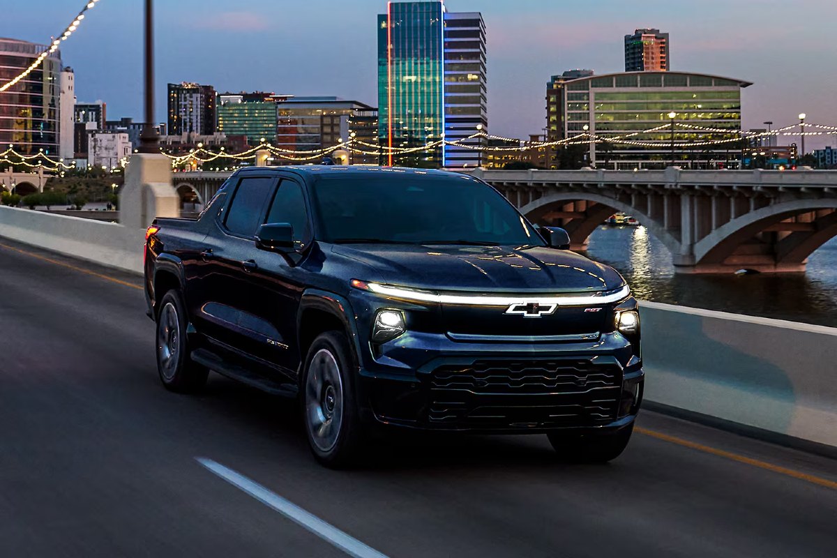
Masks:
[[[508,294],[581,293],[619,289],[614,269],[554,248],[412,244],[335,244],[331,251],[366,264],[372,277],[414,289]]]

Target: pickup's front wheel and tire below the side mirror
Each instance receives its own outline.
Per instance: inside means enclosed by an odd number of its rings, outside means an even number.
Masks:
[[[306,355],[300,386],[303,424],[311,452],[328,468],[357,464],[364,436],[346,335],[319,335]]]

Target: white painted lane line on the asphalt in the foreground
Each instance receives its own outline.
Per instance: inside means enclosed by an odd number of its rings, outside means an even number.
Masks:
[[[198,463],[221,477],[221,479],[253,496],[269,508],[275,509],[280,514],[285,515],[286,518],[295,522],[297,525],[305,527],[314,535],[327,540],[347,555],[353,556],[354,558],[388,558],[387,555],[383,555],[377,550],[364,545],[360,540],[347,535],[333,525],[327,524],[316,515],[308,513],[305,509],[282,498],[279,494],[265,489],[264,486],[248,479],[243,474],[236,473],[233,469],[224,467],[221,463],[216,463],[212,459],[195,459],[198,460]]]

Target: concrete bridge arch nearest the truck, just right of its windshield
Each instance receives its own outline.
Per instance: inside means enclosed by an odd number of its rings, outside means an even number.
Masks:
[[[561,211],[572,202],[588,202],[583,211]],[[547,218],[551,213],[557,213],[565,220],[564,228],[570,235],[573,247],[583,249],[586,246],[588,237],[599,225],[613,215],[615,212],[624,212],[632,215],[643,224],[651,234],[660,240],[669,249],[672,255],[680,253],[680,239],[663,223],[651,218],[645,212],[614,197],[603,196],[593,192],[552,192],[544,197],[527,203],[520,208],[526,218],[536,222]]]

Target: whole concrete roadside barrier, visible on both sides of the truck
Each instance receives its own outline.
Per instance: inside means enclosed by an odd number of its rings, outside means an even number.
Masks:
[[[0,237],[141,273],[142,230],[0,207]],[[837,448],[837,329],[640,304],[645,399]]]

